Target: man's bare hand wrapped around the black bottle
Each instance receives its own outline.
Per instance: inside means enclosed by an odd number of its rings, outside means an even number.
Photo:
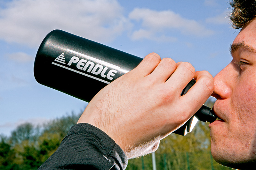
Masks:
[[[195,78],[189,91],[180,93]],[[107,133],[128,159],[154,152],[159,141],[184,124],[214,89],[207,71],[190,63],[147,55],[132,71],[103,88],[77,123],[89,123]]]

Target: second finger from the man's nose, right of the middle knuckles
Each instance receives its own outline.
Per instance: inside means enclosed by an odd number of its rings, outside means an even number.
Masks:
[[[172,76],[166,81],[168,86],[180,87],[179,93],[188,85],[189,81],[195,76],[195,68],[187,62],[177,63],[177,68]]]

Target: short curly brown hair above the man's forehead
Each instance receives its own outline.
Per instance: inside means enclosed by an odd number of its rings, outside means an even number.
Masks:
[[[233,8],[229,18],[233,28],[240,29],[256,17],[256,0],[231,0]]]

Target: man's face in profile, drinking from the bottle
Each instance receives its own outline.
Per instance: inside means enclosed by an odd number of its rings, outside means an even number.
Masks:
[[[231,54],[214,77],[213,109],[222,120],[209,125],[211,152],[220,164],[250,169],[256,165],[256,19],[236,36]]]

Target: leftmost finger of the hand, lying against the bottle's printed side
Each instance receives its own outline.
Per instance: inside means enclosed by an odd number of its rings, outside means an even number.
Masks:
[[[130,72],[135,73],[136,76],[148,76],[156,68],[160,61],[161,57],[158,54],[150,53],[135,69]]]

